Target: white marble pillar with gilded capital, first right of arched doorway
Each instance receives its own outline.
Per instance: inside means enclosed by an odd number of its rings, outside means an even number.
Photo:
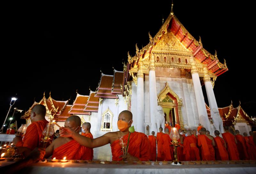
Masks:
[[[196,106],[197,106],[197,111],[199,115],[199,122],[201,125],[203,125],[206,130],[211,130],[210,129],[210,121],[208,119],[206,107],[205,107],[205,102],[204,102],[204,95],[198,75],[198,71],[196,68],[196,62],[195,58],[193,56],[190,57],[190,63],[192,65],[192,80],[193,80],[193,85],[194,85],[194,90],[195,90],[195,96],[196,96]]]

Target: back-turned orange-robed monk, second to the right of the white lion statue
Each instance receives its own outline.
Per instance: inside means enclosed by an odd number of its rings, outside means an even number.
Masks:
[[[239,130],[236,130],[236,140],[237,140],[237,150],[239,153],[239,158],[241,160],[249,160],[249,156],[246,150],[246,144],[243,135],[240,135]]]

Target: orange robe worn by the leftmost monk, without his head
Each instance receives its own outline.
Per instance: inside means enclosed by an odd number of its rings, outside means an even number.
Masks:
[[[27,147],[31,150],[33,150],[36,147],[39,147],[41,138],[44,138],[44,135],[43,135],[44,128],[46,127],[46,125],[48,123],[49,122],[47,120],[40,120],[40,121],[31,123],[28,126],[27,131],[26,131],[25,136],[23,137],[22,141],[19,141],[16,144],[16,147],[23,146],[23,147]],[[53,135],[52,135],[52,137],[53,137]]]

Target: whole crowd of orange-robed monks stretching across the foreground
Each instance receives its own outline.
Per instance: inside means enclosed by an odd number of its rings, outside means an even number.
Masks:
[[[31,111],[31,125],[28,126],[23,139],[15,137],[13,144],[18,153],[28,156],[33,149],[40,147],[43,138],[43,130],[48,124],[45,119],[46,109],[44,105],[36,105]],[[171,125],[165,123],[159,128],[155,136],[145,135],[141,132],[129,132],[132,125],[132,113],[128,110],[122,111],[118,116],[117,126],[119,131],[108,132],[103,136],[93,139],[90,132],[91,124],[84,123],[81,127],[80,117],[73,115],[65,121],[64,127],[60,128],[59,135],[45,149],[44,158],[55,157],[56,159],[69,160],[92,160],[93,148],[110,144],[113,161],[172,161],[174,160],[174,149],[170,138]],[[256,145],[253,141],[254,133],[236,135],[229,132],[229,127],[224,126],[225,133],[215,131],[210,135],[203,126],[199,124],[197,130],[181,130],[180,125],[175,122],[179,132],[179,147],[177,155],[179,161],[200,160],[255,160]],[[82,130],[82,133],[79,133]],[[129,136],[130,135],[130,136]],[[122,151],[120,137],[127,144],[129,138],[128,153]],[[52,137],[51,137],[52,138]]]

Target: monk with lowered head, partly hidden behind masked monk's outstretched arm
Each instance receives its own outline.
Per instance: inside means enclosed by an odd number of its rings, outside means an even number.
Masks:
[[[72,129],[76,133],[80,131],[80,125],[81,119],[76,115],[68,117],[64,124],[65,127]],[[93,150],[80,145],[72,138],[59,137],[45,149],[44,158],[50,156],[56,159],[66,157],[67,160],[92,160]]]

